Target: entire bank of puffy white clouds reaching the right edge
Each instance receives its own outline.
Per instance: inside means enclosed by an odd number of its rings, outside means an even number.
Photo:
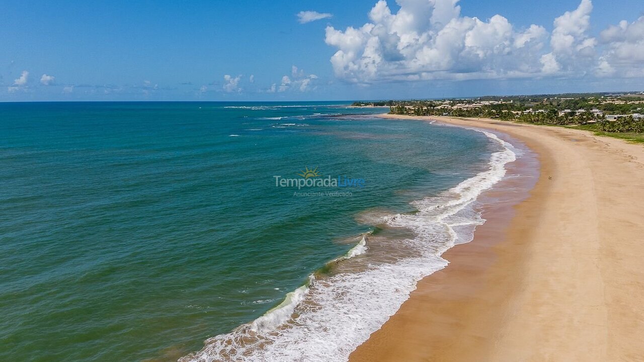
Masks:
[[[502,15],[487,21],[460,15],[459,0],[385,0],[369,23],[337,30],[325,42],[339,79],[358,84],[437,79],[644,77],[644,16],[589,35],[591,0],[554,19],[553,31],[516,29]]]

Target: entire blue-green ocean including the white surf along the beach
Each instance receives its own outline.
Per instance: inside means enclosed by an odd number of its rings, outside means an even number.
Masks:
[[[516,156],[386,111],[0,103],[0,360],[346,361]]]

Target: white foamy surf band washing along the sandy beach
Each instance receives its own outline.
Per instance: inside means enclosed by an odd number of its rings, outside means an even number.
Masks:
[[[278,307],[251,323],[205,342],[205,347],[181,361],[344,362],[349,354],[379,329],[409,298],[417,281],[438,271],[447,260],[442,252],[469,242],[485,220],[473,207],[482,191],[503,178],[505,165],[516,159],[513,147],[493,133],[482,131],[502,147],[489,168],[438,196],[413,202],[417,213],[385,218],[393,227],[406,227],[415,236],[403,241],[413,251],[393,263],[369,263],[359,272],[339,272],[310,282],[287,294]],[[363,236],[345,256],[366,254]]]

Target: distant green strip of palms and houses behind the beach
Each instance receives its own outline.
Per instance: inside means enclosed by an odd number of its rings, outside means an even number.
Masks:
[[[389,106],[390,113],[399,115],[489,118],[589,126],[585,128],[605,132],[644,132],[644,91],[388,100],[353,105]]]

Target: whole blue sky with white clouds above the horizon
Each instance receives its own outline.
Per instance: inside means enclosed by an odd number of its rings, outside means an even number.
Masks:
[[[644,90],[641,0],[0,3],[0,101]]]

